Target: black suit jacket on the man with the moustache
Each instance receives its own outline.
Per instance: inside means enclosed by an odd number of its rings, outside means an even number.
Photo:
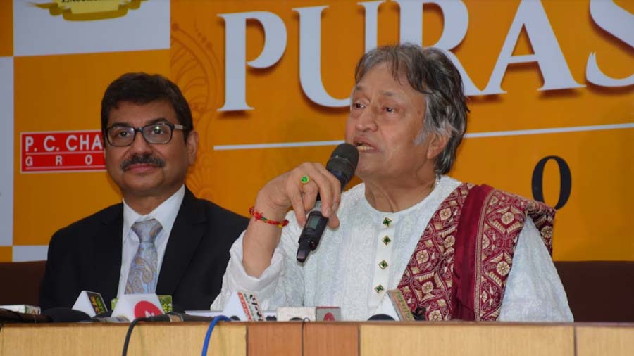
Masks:
[[[185,189],[156,294],[172,295],[174,310],[208,310],[220,293],[229,249],[248,222]],[[82,290],[101,293],[109,309],[118,290],[122,231],[123,203],[57,231],[39,293],[42,310],[72,307]]]

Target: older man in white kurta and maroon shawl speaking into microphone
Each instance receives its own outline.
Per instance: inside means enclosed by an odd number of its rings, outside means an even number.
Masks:
[[[323,165],[303,163],[263,186],[212,307],[247,290],[265,309],[336,305],[359,320],[399,289],[425,319],[571,321],[549,255],[554,210],[444,175],[467,113],[460,74],[442,51],[366,53],[345,135],[363,183],[341,193]],[[318,193],[328,228],[302,264],[297,239]]]

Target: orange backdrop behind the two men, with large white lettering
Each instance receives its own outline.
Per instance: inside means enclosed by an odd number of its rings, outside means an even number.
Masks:
[[[200,197],[247,215],[256,192],[269,179],[306,160],[324,162],[333,144],[302,143],[342,140],[348,108],[320,106],[304,94],[299,80],[299,14],[293,9],[328,6],[321,14],[321,79],[330,96],[345,98],[365,48],[366,14],[357,2],[173,0],[169,50],[14,58],[14,245],[46,245],[56,229],[120,201],[103,171],[23,174],[19,165],[20,132],[99,129],[101,95],[123,72],[159,72],[183,89],[201,134],[187,185]],[[464,4],[468,29],[452,52],[475,86],[484,89],[520,1]],[[633,18],[634,3],[615,4]],[[537,163],[557,156],[569,168],[571,181],[569,198],[557,214],[554,259],[634,260],[634,233],[628,224],[634,198],[634,86],[601,87],[585,77],[592,52],[605,75],[633,75],[633,47],[592,20],[590,1],[553,0],[542,5],[571,75],[583,87],[540,91],[544,79],[536,62],[510,64],[502,81],[506,94],[471,97],[470,136],[450,175],[533,198]],[[136,11],[142,10],[143,6]],[[247,66],[245,96],[253,110],[218,111],[225,103],[227,64],[226,24],[219,15],[249,11],[274,13],[282,20],[285,51],[268,68]],[[435,44],[445,26],[443,13],[439,6],[425,4],[422,17],[423,44]],[[399,41],[399,19],[397,2],[380,5],[378,44]],[[266,41],[279,40],[266,38],[256,20],[247,20],[245,37],[247,61],[259,56]],[[523,30],[514,56],[530,53],[533,44]],[[595,128],[580,128],[588,126]],[[559,128],[571,132],[522,131]],[[500,133],[507,131],[515,133]],[[478,136],[483,132],[496,134]],[[291,145],[248,146],[278,143]],[[557,204],[561,193],[559,174],[555,160],[548,160],[540,181],[550,205]],[[42,219],[35,224],[34,216]],[[0,248],[0,259],[6,255]]]

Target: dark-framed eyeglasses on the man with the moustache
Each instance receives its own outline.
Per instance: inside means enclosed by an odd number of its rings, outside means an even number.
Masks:
[[[148,144],[167,144],[172,141],[172,134],[175,129],[187,128],[183,125],[175,125],[168,122],[158,122],[136,129],[127,125],[113,125],[106,129],[106,139],[112,146],[130,146],[135,141],[137,132],[141,132]]]

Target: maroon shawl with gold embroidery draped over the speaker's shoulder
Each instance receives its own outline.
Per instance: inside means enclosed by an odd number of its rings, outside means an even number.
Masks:
[[[496,320],[526,217],[552,254],[555,210],[544,203],[461,184],[440,204],[399,282],[412,312],[428,320]]]

